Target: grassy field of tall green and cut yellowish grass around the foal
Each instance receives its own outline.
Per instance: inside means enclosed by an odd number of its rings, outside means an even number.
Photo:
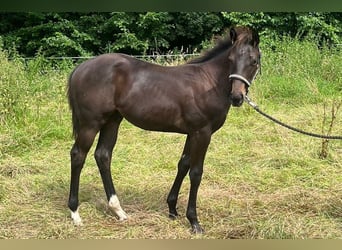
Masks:
[[[326,133],[331,108],[342,102],[341,50],[292,39],[275,44],[262,47],[262,75],[250,96],[293,126]],[[9,61],[0,51],[0,239],[342,239],[342,141],[329,141],[322,159],[322,140],[279,127],[247,105],[231,109],[207,153],[198,195],[204,235],[192,235],[185,218],[188,178],[180,218],[167,216],[185,136],[126,121],[112,173],[129,219],[119,222],[108,209],[92,148],[80,184],[84,225],[74,226],[67,208],[73,141],[65,85],[71,69],[41,57]],[[332,134],[342,134],[342,110]]]

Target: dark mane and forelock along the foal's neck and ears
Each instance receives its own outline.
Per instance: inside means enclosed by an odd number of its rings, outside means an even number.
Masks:
[[[232,41],[231,37],[228,35],[225,38],[219,38],[216,45],[206,51],[203,55],[194,58],[187,62],[187,64],[196,64],[209,61],[210,59],[220,55],[221,53],[227,51],[234,44],[250,43],[252,46],[256,46],[259,43],[259,38],[257,38],[256,33],[247,27],[236,27],[236,41]]]

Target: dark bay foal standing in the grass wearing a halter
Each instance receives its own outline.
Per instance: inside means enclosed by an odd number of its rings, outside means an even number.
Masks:
[[[111,159],[123,118],[146,130],[186,134],[178,172],[167,198],[175,218],[177,199],[189,173],[186,216],[194,233],[202,233],[196,212],[197,191],[211,135],[225,122],[231,105],[244,101],[260,64],[258,34],[239,27],[203,56],[165,67],[124,54],[104,54],[81,63],[71,74],[68,97],[75,143],[71,149],[69,208],[75,224],[80,173],[94,138],[100,132],[95,159],[109,206],[127,219],[111,176]]]

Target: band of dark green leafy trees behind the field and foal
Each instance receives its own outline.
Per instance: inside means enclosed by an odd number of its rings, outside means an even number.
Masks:
[[[4,47],[22,56],[87,56],[199,51],[213,35],[248,25],[264,41],[283,36],[314,39],[319,46],[341,43],[341,13],[281,12],[105,12],[0,13]]]

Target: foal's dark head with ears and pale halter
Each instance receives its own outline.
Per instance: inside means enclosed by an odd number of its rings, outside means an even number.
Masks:
[[[247,28],[232,28],[230,38],[229,98],[233,106],[239,107],[260,67],[259,35]]]

